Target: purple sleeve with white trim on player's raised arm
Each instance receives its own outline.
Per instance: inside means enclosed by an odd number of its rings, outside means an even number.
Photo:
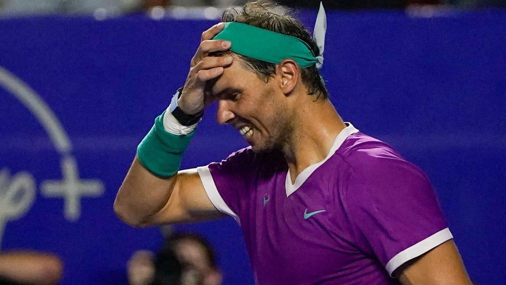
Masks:
[[[252,151],[241,149],[221,162],[197,168],[205,192],[213,205],[240,224],[241,199],[247,194]]]

